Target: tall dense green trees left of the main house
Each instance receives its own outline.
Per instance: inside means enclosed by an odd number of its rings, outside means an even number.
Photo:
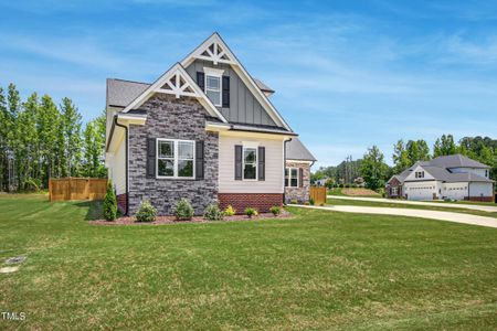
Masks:
[[[21,99],[14,84],[0,86],[0,191],[46,189],[50,178],[106,178],[106,117],[83,128],[82,115],[64,97],[32,93]]]

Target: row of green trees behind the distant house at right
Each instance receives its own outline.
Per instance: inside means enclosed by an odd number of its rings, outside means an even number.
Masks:
[[[458,142],[455,142],[454,136],[442,135],[436,139],[431,152],[425,140],[403,140],[396,141],[393,145],[393,167],[389,167],[384,162],[384,154],[377,146],[372,146],[367,150],[362,159],[352,161],[343,161],[337,167],[321,167],[313,173],[311,180],[316,181],[322,178],[328,178],[328,185],[332,184],[351,184],[346,182],[343,169],[352,167],[355,169],[356,178],[363,179],[366,186],[372,190],[380,190],[384,188],[385,182],[396,173],[412,167],[417,161],[427,161],[441,156],[450,156],[461,153],[470,159],[479,161],[489,166],[490,178],[497,179],[497,140],[489,137],[464,137]]]

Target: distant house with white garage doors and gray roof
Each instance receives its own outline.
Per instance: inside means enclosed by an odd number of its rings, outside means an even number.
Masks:
[[[462,154],[420,161],[387,182],[389,197],[494,201],[490,167]]]

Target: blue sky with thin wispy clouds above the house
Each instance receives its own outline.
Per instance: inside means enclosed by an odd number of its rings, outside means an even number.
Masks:
[[[319,159],[442,134],[497,138],[497,1],[1,1],[0,84],[71,97],[152,82],[213,31]]]

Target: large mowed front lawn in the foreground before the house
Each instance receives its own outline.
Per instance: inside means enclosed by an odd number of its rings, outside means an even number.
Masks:
[[[95,226],[97,203],[0,197],[0,329],[497,328],[497,229],[292,209]]]

